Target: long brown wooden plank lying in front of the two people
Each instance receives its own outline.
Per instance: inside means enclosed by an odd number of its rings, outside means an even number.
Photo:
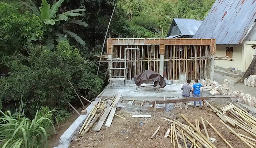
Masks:
[[[191,98],[178,98],[178,99],[171,99],[171,100],[162,100],[162,101],[157,101],[156,104],[188,102],[188,101],[203,101],[203,100],[210,100],[210,97],[191,97]],[[149,104],[155,104],[155,101],[149,102]]]

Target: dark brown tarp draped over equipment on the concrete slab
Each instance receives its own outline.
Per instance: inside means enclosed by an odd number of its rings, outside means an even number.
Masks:
[[[134,78],[134,82],[137,86],[147,83],[149,80],[154,80],[155,86],[157,85],[157,82],[159,82],[161,88],[166,86],[165,79],[163,79],[163,77],[155,71],[146,70],[141,72],[139,75],[136,75]]]

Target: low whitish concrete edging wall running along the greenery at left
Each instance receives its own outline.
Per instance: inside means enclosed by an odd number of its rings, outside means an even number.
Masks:
[[[93,101],[94,104],[97,104],[99,101],[99,98],[96,98],[95,101]],[[84,120],[88,116],[88,114],[91,112],[91,109],[93,109],[94,105],[90,104],[86,110],[86,115],[80,115],[74,123],[70,125],[70,127],[60,136],[59,145],[55,148],[69,148],[71,145],[72,140],[75,139],[75,137],[79,134],[79,130],[83,125]]]

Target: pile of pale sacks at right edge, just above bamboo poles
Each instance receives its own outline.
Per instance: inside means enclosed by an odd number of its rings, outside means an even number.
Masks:
[[[233,94],[236,96],[238,101],[244,102],[250,107],[256,107],[256,98],[251,96],[249,93],[245,94],[242,91],[234,91]]]

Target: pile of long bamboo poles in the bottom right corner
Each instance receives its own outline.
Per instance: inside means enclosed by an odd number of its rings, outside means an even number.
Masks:
[[[210,105],[209,103],[207,103]],[[219,111],[217,108],[210,105],[210,108],[216,112],[216,114],[221,118],[221,123],[229,129],[229,131],[236,135],[239,139],[241,139],[246,145],[248,145],[250,148],[253,148],[253,146],[256,146],[253,144],[256,140],[256,118],[252,116],[250,113],[245,111],[243,108],[241,108],[238,104],[237,106],[233,105],[234,108],[228,109],[227,112],[223,113]],[[229,117],[229,116],[231,117]],[[237,133],[233,129],[231,129],[226,123],[229,123],[233,127],[241,128],[245,132],[249,133],[254,138],[242,135],[240,133]],[[251,140],[251,141],[250,141]]]

